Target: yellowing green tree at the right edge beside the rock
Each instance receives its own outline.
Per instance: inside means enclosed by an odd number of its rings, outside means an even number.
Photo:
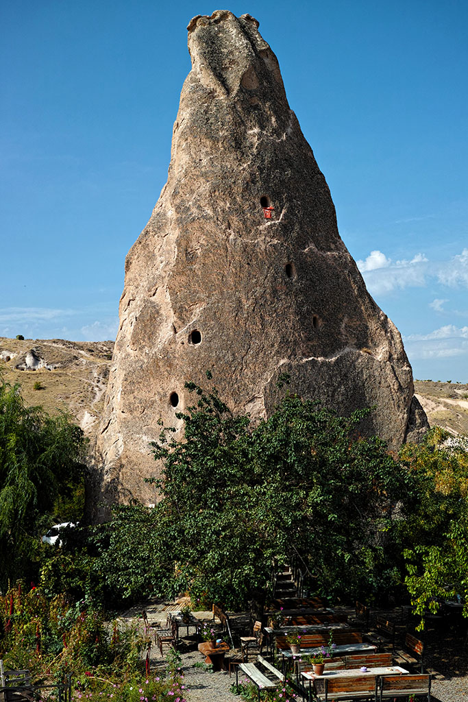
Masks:
[[[468,616],[468,439],[436,427],[401,458],[413,472],[418,500],[406,521],[406,585],[413,611],[436,612],[457,595]]]

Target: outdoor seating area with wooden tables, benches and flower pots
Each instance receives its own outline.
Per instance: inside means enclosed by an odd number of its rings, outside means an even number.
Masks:
[[[168,611],[159,623],[149,623],[143,612],[143,623],[161,657],[169,647],[194,651],[199,665],[213,673],[234,673],[236,687],[248,680],[259,702],[282,684],[308,702],[407,701],[411,695],[431,702],[434,671],[424,670],[427,644],[410,629],[401,608],[382,611],[358,602],[355,610],[333,609],[313,597],[279,598],[274,604],[287,609],[270,605],[254,618],[228,614],[219,604],[211,612],[186,606],[183,612]],[[315,660],[321,654],[322,670]]]

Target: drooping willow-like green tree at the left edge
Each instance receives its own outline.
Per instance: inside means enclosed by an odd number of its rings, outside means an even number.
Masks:
[[[67,415],[25,406],[20,386],[0,378],[0,588],[30,575],[41,519],[82,484],[85,446]]]

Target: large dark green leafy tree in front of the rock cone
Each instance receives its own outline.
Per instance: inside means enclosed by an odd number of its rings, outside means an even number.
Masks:
[[[197,402],[178,415],[184,439],[163,428],[154,444],[163,465],[152,536],[161,588],[261,606],[272,562],[291,555],[330,597],[377,595],[398,583],[413,479],[384,442],[359,437],[367,410],[342,418],[288,395],[252,427],[215,390],[187,388]]]

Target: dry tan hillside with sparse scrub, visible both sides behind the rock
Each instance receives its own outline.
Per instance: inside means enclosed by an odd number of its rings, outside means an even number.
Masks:
[[[114,342],[0,337],[0,372],[20,383],[27,404],[69,411],[86,434],[98,428]],[[41,390],[34,384],[41,383]],[[415,380],[429,424],[468,435],[468,385]]]

